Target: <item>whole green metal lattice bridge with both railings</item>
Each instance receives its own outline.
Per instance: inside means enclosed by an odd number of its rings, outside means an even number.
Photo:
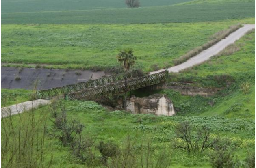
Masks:
[[[64,95],[66,100],[91,100],[107,97],[165,82],[168,71],[142,77],[138,77],[138,74],[139,71],[137,70],[126,73],[126,82],[124,80],[125,75],[122,73],[97,80],[89,80],[87,82],[80,82],[63,87],[40,90],[37,92],[37,97],[39,99],[46,99],[57,95]]]

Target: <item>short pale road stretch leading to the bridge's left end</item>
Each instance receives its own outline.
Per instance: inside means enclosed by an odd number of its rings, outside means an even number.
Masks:
[[[50,102],[50,100],[38,99],[4,107],[1,108],[1,118],[7,117],[9,115],[19,114],[24,111],[31,110],[32,108],[37,108],[38,106],[49,104]]]

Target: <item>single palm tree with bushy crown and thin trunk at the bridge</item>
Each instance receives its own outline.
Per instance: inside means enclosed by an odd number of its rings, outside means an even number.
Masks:
[[[127,93],[127,72],[129,71],[130,67],[135,65],[135,60],[137,60],[136,56],[133,55],[133,51],[130,49],[121,50],[119,54],[117,54],[117,62],[120,62],[124,67],[124,101],[123,101],[123,108],[126,109],[126,93]]]

